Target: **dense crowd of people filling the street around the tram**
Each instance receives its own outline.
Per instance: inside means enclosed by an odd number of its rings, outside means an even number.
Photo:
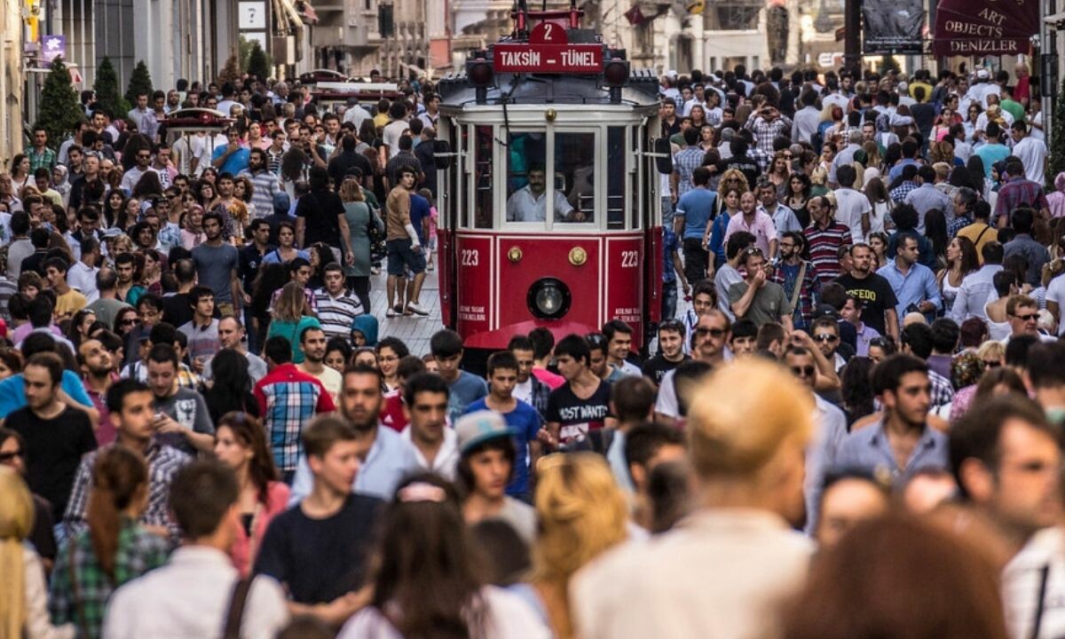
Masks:
[[[0,175],[0,636],[1062,636],[1065,174],[1026,68],[934,82],[662,78],[653,351],[484,376],[370,308],[383,241],[427,315],[430,83],[86,93]]]

